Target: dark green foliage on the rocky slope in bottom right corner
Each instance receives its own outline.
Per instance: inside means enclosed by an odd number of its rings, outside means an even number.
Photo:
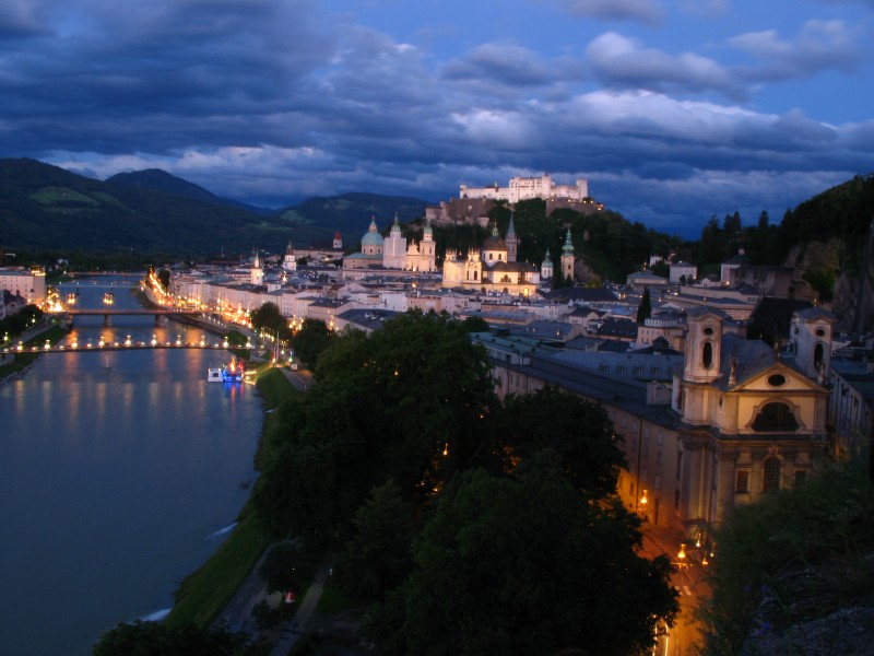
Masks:
[[[707,656],[740,654],[756,634],[780,633],[808,619],[801,616],[810,609],[822,613],[814,618],[835,612],[840,606],[829,608],[829,597],[851,605],[874,589],[874,487],[866,464],[832,466],[801,487],[735,508],[716,544],[713,595],[702,613]],[[803,595],[788,584],[789,574],[799,571],[814,588]],[[761,619],[756,629],[766,598],[778,612],[767,618],[770,629]]]

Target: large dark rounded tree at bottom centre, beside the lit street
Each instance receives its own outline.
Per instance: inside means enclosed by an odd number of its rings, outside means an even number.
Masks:
[[[619,504],[581,501],[548,459],[516,480],[465,472],[364,632],[390,655],[642,652],[677,601],[666,558],[638,555],[638,526]]]

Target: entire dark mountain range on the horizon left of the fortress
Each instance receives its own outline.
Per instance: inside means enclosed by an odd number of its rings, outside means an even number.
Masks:
[[[338,229],[354,244],[371,214],[385,230],[395,212],[409,221],[423,215],[426,204],[346,194],[265,214],[163,171],[101,181],[36,160],[0,160],[0,243],[10,249],[173,257],[280,253],[290,241],[299,247],[330,242]]]

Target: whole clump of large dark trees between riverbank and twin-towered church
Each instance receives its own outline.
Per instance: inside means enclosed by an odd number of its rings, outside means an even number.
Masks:
[[[670,563],[638,558],[639,519],[614,502],[610,421],[554,388],[500,401],[476,328],[411,312],[338,336],[272,415],[257,512],[336,551],[332,581],[374,604],[382,653],[651,644],[676,612]]]

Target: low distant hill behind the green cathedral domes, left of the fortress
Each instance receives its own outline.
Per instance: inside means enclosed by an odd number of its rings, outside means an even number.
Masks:
[[[281,210],[279,215],[296,226],[333,226],[346,243],[357,242],[376,219],[380,232],[394,221],[408,223],[425,215],[432,203],[409,196],[379,196],[351,192],[341,196],[316,197]]]

